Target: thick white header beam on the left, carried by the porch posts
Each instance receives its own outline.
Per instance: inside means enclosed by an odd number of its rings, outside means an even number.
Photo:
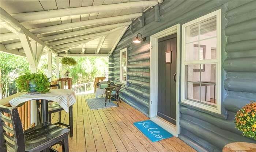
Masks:
[[[34,35],[33,33],[31,33],[29,30],[27,30],[24,26],[22,26],[22,24],[20,24],[16,19],[14,19],[10,14],[8,14],[3,8],[0,7],[0,14],[1,14],[1,25],[5,28],[7,28],[8,30],[10,30],[11,32],[14,32],[17,35],[20,34],[26,34],[27,36],[29,36],[31,39],[35,40],[36,42],[38,42],[39,44],[41,44],[42,46],[45,46],[48,50],[52,51],[54,54],[57,55],[57,53],[50,48],[49,46],[47,46],[42,40],[40,40],[36,35]]]

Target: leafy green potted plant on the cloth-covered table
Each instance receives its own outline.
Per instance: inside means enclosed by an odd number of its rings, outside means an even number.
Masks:
[[[25,73],[16,79],[17,86],[22,91],[46,93],[49,91],[50,82],[45,74]]]

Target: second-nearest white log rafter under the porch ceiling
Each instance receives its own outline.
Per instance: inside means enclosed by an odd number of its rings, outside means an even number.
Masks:
[[[121,15],[121,16],[114,16],[114,17],[106,17],[106,18],[99,18],[99,19],[93,19],[93,20],[85,20],[85,21],[79,21],[79,22],[73,22],[73,23],[66,23],[66,24],[59,24],[54,26],[46,26],[46,27],[39,27],[39,28],[33,28],[30,29],[30,31],[34,34],[44,34],[54,31],[61,31],[66,30],[70,28],[75,27],[83,27],[83,26],[92,26],[92,25],[98,25],[98,24],[104,24],[104,23],[112,23],[112,22],[119,22],[124,20],[131,20],[136,17],[142,16],[142,13],[134,13],[134,14],[128,14],[128,15]]]

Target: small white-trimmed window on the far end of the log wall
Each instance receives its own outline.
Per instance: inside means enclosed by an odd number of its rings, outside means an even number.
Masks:
[[[127,82],[127,48],[120,51],[120,82]]]

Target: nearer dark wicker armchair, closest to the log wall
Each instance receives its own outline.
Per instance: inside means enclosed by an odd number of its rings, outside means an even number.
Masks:
[[[115,98],[116,102],[117,102],[117,106],[119,106],[119,102],[121,102],[120,97],[119,97],[119,90],[121,89],[121,86],[122,85],[112,85],[112,86],[106,88],[105,106],[107,106],[107,100],[109,99],[109,102],[110,102],[111,98]]]

